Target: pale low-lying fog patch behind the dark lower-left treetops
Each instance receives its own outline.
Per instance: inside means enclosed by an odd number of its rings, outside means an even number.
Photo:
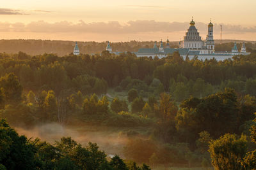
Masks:
[[[44,124],[38,125],[33,129],[15,128],[21,135],[24,134],[27,138],[40,138],[42,141],[54,143],[54,141],[60,141],[64,137],[72,137],[77,143],[81,143],[83,146],[87,146],[88,142],[97,143],[100,150],[104,150],[109,156],[122,154],[122,150],[127,142],[126,134],[108,127],[95,127],[95,126],[83,126],[83,127],[63,127],[60,124]]]

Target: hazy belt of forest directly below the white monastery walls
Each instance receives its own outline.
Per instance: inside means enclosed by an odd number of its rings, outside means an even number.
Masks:
[[[189,96],[204,97],[230,87],[241,94],[255,95],[255,53],[233,60],[183,60],[179,53],[165,59],[136,57],[133,53],[116,56],[53,54],[30,56],[26,53],[0,53],[0,76],[14,73],[25,92],[54,90],[57,96],[71,94],[105,94],[138,90],[140,96],[158,96],[170,92],[177,101]]]

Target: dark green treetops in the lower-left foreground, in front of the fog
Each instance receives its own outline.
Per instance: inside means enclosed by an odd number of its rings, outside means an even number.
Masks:
[[[61,138],[53,145],[19,136],[5,120],[0,120],[0,169],[109,169],[149,170],[135,162],[124,162],[118,155],[110,160],[96,143],[83,147],[72,138]]]

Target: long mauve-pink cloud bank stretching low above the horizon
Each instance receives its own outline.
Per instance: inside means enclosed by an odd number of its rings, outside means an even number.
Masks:
[[[222,25],[223,32],[230,34],[256,32],[256,26],[243,27],[241,25],[214,24],[214,31],[220,32]],[[9,23],[0,22],[0,31],[2,32],[77,32],[77,33],[95,33],[95,34],[138,34],[147,32],[186,32],[189,27],[188,22],[157,22],[155,20],[135,20],[125,24],[116,21],[111,22],[91,22],[86,23],[83,20],[79,22],[55,22],[49,23],[43,20],[24,24],[21,22]],[[196,22],[196,28],[203,34],[207,32],[207,24]]]

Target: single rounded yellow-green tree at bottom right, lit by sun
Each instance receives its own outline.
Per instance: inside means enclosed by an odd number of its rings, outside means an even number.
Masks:
[[[212,166],[215,169],[242,169],[240,162],[246,154],[246,149],[246,136],[237,138],[234,134],[225,134],[210,142]]]

